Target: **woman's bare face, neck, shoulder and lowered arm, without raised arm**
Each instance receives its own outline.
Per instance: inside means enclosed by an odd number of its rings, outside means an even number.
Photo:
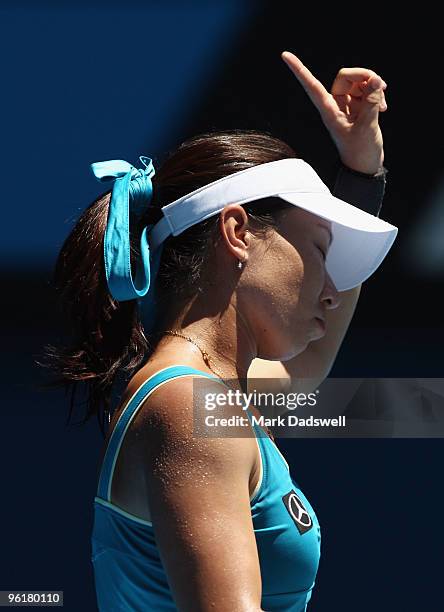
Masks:
[[[321,338],[325,332],[316,317],[324,317],[339,301],[325,271],[327,222],[294,208],[282,217],[279,231],[264,240],[248,230],[244,209],[230,205],[221,223],[229,248],[222,241],[216,265],[225,259],[233,263],[233,246],[242,245],[248,259],[232,305],[220,307],[230,282],[215,283],[213,292],[195,300],[172,327],[196,338],[218,358],[224,375],[234,379],[242,368],[248,370],[259,351],[285,358]],[[235,266],[231,269],[238,274]],[[188,320],[194,322],[187,325]],[[290,334],[294,329],[299,334]],[[229,355],[230,348],[230,360],[223,361],[221,353]],[[121,407],[148,376],[177,363],[213,373],[194,344],[164,336],[131,380]],[[226,389],[218,382],[208,382],[208,387],[214,393]],[[260,477],[258,446],[254,437],[193,437],[198,403],[192,377],[170,380],[147,398],[124,438],[111,499],[156,525],[156,541],[180,610],[260,610],[260,565],[250,508]],[[240,407],[236,411],[227,406],[226,413],[218,409],[218,416],[243,416]],[[245,436],[242,428],[239,433]]]

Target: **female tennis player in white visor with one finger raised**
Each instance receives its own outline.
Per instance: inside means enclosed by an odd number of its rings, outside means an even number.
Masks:
[[[48,348],[52,367],[87,384],[86,418],[107,414],[119,375],[126,385],[94,500],[100,610],[298,612],[311,598],[319,523],[258,409],[245,425],[222,402],[232,433],[193,431],[208,392],[319,384],[397,231],[378,217],[383,79],[342,68],[328,92],[282,59],[337,147],[333,193],[269,133],[201,134],[156,169],[144,156],[92,164],[112,188],[57,261],[73,339]]]

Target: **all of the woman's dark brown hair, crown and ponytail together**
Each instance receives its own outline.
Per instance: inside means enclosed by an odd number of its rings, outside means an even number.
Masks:
[[[156,169],[150,205],[137,222],[130,219],[131,268],[140,257],[142,231],[162,218],[163,206],[234,172],[288,157],[296,157],[288,144],[256,130],[209,132],[183,142]],[[110,200],[109,191],[97,198],[62,246],[53,284],[69,339],[59,347],[46,345],[37,361],[55,375],[45,387],[64,387],[71,392],[68,419],[78,385],[86,385],[87,410],[80,424],[96,414],[103,434],[114,383],[120,374],[131,377],[148,359],[160,340],[156,329],[161,323],[150,321],[153,335],[148,340],[138,301],[117,301],[109,292],[103,249]],[[243,206],[252,229],[267,233],[276,226],[280,211],[292,205],[280,198],[264,198]],[[156,302],[163,317],[203,290],[217,236],[218,215],[214,215],[164,241],[155,280]]]

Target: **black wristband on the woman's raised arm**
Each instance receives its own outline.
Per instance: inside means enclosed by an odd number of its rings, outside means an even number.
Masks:
[[[384,166],[375,174],[352,170],[339,162],[338,174],[332,193],[353,206],[379,217],[387,182]]]

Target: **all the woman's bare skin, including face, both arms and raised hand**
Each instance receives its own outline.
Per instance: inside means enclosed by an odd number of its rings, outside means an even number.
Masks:
[[[365,68],[342,68],[329,93],[299,58],[285,52],[282,59],[317,106],[342,161],[376,172],[383,161],[377,119],[387,108],[384,81]],[[289,364],[287,376],[322,377],[353,314],[359,288],[338,294],[325,271],[328,223],[297,208],[284,219],[278,231],[259,238],[241,206],[225,207],[207,291],[166,319],[165,329],[196,339],[225,378],[246,379],[257,359],[276,364],[268,372]],[[246,262],[243,270],[236,260]],[[120,408],[148,376],[178,363],[213,373],[192,343],[166,336],[131,379]],[[207,384],[223,390],[218,382]],[[170,380],[148,397],[125,436],[112,502],[155,523],[182,612],[257,612],[261,576],[249,503],[259,478],[257,443],[193,438],[193,409],[201,401],[193,396],[192,377]]]

